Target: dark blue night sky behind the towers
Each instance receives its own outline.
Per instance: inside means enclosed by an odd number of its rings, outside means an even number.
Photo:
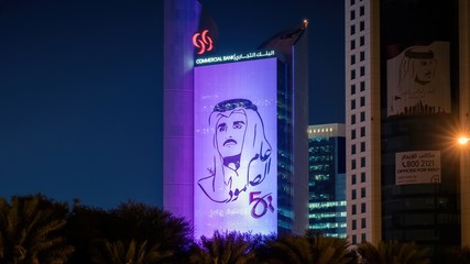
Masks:
[[[345,122],[342,0],[200,0],[219,52],[309,20],[310,123]],[[0,197],[162,205],[161,0],[0,1]]]

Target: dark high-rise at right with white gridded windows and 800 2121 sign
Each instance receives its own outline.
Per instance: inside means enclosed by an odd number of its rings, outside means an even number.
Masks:
[[[468,245],[468,1],[346,0],[345,18],[348,237]]]

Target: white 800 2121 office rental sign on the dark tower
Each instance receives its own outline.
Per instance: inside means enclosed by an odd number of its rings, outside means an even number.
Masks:
[[[440,152],[413,151],[395,153],[395,184],[439,184]]]

